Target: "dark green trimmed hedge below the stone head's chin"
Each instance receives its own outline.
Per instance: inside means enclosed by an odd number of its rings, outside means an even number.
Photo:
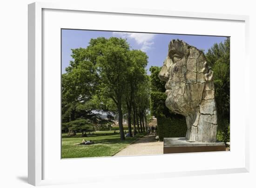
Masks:
[[[171,113],[165,106],[166,95],[161,92],[150,94],[151,114],[157,119],[157,133],[159,139],[185,137],[187,124],[184,116]]]

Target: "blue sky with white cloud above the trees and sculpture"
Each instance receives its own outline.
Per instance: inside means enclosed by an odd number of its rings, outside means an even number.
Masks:
[[[155,33],[131,33],[113,31],[88,31],[88,30],[67,30],[62,29],[62,73],[72,60],[71,49],[86,48],[91,38],[98,37],[121,37],[127,38],[131,49],[142,50],[148,55],[147,70],[151,66],[161,67],[168,52],[168,43],[172,39],[180,39],[195,46],[198,49],[208,49],[215,43],[223,42],[226,37],[199,36],[199,35],[177,35],[177,34],[155,34]],[[148,70],[148,74],[150,74]]]

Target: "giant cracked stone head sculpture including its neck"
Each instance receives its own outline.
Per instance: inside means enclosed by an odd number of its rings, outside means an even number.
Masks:
[[[213,75],[201,50],[178,39],[169,43],[159,78],[166,82],[166,106],[186,118],[189,141],[216,142]]]

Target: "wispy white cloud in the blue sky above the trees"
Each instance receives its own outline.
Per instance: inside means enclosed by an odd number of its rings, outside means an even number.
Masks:
[[[142,51],[147,51],[154,44],[153,39],[156,34],[153,33],[129,33],[129,32],[113,32],[114,36],[121,38],[134,39],[137,44],[141,45]]]

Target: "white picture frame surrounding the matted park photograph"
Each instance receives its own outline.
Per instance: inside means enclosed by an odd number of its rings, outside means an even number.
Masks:
[[[226,15],[215,13],[193,13],[193,12],[177,12],[177,11],[163,11],[163,10],[148,10],[148,9],[128,9],[118,8],[110,9],[104,7],[88,7],[84,4],[72,4],[72,3],[41,3],[35,2],[28,5],[28,182],[32,185],[44,185],[53,183],[70,183],[72,178],[68,181],[61,180],[43,180],[44,178],[44,147],[43,136],[45,134],[43,128],[43,116],[44,107],[43,100],[43,54],[42,45],[43,42],[43,10],[56,10],[56,11],[83,11],[90,13],[115,13],[115,14],[129,14],[133,16],[147,15],[147,16],[162,16],[172,18],[189,18],[189,19],[205,19],[205,20],[227,20],[227,21],[241,21],[245,25],[245,37],[244,37],[244,59],[245,67],[249,68],[249,16],[245,15]],[[245,77],[249,75],[244,74]],[[249,80],[249,78],[248,78]],[[231,85],[232,86],[232,85]],[[249,91],[244,91],[248,94]],[[248,92],[248,93],[247,93]],[[249,96],[249,94],[248,94]],[[249,99],[246,99],[248,104]],[[231,104],[232,106],[232,104]],[[224,173],[237,173],[237,172],[249,172],[249,121],[248,117],[244,117],[245,135],[243,140],[244,147],[244,165],[239,168],[224,168],[224,169],[204,169],[204,170],[187,170],[168,172],[162,171],[162,173],[149,173],[142,172],[141,178],[150,177],[172,177],[183,175],[210,175],[210,174],[224,174]],[[232,146],[233,147],[233,146]],[[61,160],[61,159],[60,159]],[[121,177],[127,177],[123,175]],[[93,181],[96,177],[90,177]],[[75,182],[86,182],[87,180],[79,179]]]

